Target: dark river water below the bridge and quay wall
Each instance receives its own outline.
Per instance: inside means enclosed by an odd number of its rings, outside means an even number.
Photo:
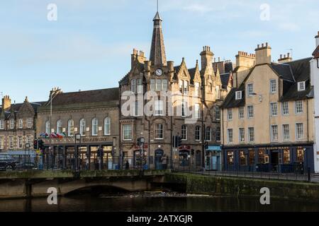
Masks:
[[[319,211],[319,203],[272,200],[262,206],[259,198],[187,196],[185,194],[125,194],[121,196],[91,196],[77,194],[58,198],[58,205],[48,205],[47,198],[1,200],[0,211],[69,212],[69,211],[159,211],[159,212],[219,212],[219,211]]]

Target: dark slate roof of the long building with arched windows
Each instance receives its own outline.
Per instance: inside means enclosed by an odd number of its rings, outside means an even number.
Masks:
[[[52,99],[52,105],[72,105],[91,102],[107,102],[119,99],[118,88],[60,93]],[[47,102],[47,104],[50,103]]]

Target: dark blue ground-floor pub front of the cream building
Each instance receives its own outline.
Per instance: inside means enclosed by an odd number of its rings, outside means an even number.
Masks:
[[[225,170],[255,172],[305,172],[314,171],[313,145],[259,146],[223,148]]]

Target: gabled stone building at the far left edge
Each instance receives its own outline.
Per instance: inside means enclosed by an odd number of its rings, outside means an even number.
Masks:
[[[13,104],[8,95],[2,98],[0,107],[0,150],[27,150],[26,143],[33,150],[37,112],[43,102]]]

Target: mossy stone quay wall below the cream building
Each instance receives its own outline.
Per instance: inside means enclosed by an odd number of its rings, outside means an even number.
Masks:
[[[256,196],[260,189],[270,189],[270,198],[295,199],[319,202],[319,184],[306,182],[247,179],[237,177],[208,177],[196,174],[167,174],[165,182],[186,184],[188,194],[209,194],[216,196]]]

